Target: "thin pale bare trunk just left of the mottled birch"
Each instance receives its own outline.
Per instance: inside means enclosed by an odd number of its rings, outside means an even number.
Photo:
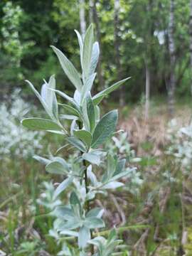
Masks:
[[[150,98],[150,71],[149,64],[145,62],[145,119],[149,119],[149,98]]]

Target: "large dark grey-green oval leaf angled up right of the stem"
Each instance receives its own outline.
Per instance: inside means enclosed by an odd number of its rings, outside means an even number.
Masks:
[[[112,110],[105,114],[105,116],[103,116],[102,119],[100,119],[100,122],[98,122],[92,134],[91,147],[93,149],[100,146],[102,143],[104,143],[108,138],[112,136],[117,125],[117,117],[117,110]]]

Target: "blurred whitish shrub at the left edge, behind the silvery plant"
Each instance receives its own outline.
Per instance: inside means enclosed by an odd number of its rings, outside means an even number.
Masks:
[[[19,120],[28,112],[30,105],[19,96],[15,90],[11,96],[11,107],[7,102],[0,105],[0,159],[17,156],[27,158],[34,151],[42,149],[41,139],[43,133],[24,129]]]

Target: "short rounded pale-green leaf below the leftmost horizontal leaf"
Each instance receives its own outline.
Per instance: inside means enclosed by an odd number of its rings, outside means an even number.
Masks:
[[[55,158],[50,164],[46,165],[46,171],[50,174],[68,174],[68,164],[64,159]]]

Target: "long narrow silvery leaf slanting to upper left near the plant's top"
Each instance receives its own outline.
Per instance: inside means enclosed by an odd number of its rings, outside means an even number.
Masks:
[[[62,66],[65,74],[68,76],[73,85],[75,85],[75,88],[80,92],[82,88],[82,81],[80,80],[78,71],[75,69],[70,60],[68,60],[68,58],[62,53],[62,51],[55,46],[51,46],[51,48],[53,48],[55,54],[58,56],[60,65]]]

